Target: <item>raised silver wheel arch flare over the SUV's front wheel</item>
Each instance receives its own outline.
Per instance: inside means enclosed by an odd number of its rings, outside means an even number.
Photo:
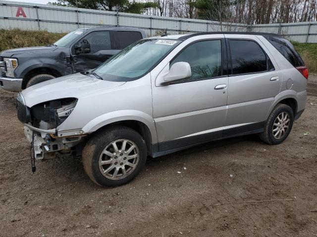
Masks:
[[[150,115],[136,110],[120,110],[101,115],[88,122],[82,128],[82,131],[85,133],[92,133],[107,124],[124,120],[135,120],[144,123],[151,132],[152,143],[158,143],[154,119]]]

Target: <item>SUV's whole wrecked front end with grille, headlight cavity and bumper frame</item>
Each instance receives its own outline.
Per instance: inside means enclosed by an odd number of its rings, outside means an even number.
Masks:
[[[62,98],[32,106],[25,105],[22,93],[16,99],[18,119],[31,144],[31,159],[80,156],[76,145],[85,134],[81,130],[58,131],[58,126],[71,114],[77,98]],[[79,146],[80,147],[80,146]]]

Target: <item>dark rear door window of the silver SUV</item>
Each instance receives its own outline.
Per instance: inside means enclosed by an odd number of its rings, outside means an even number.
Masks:
[[[229,44],[233,75],[267,70],[266,55],[255,41],[229,40]]]

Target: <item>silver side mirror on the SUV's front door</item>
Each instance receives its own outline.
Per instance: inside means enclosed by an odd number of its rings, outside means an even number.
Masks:
[[[190,68],[189,63],[177,62],[170,67],[169,73],[165,75],[162,85],[169,84],[173,81],[189,79],[191,76],[192,70]]]

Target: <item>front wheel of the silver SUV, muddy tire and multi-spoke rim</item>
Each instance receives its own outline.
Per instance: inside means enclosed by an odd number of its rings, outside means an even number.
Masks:
[[[98,185],[126,184],[142,170],[147,159],[143,137],[135,130],[114,126],[95,134],[86,144],[82,161],[87,175]]]

